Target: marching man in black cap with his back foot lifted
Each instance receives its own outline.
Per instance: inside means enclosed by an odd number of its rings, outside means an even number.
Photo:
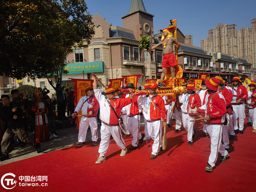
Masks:
[[[126,88],[130,91],[126,97],[130,97],[133,93],[133,89],[135,88],[132,83],[128,83]],[[140,140],[140,144],[143,142],[143,138],[145,136],[144,133],[140,133],[140,112],[141,105],[138,105],[138,100],[142,99],[142,96],[135,96],[132,99],[132,103],[127,105],[126,113],[127,113],[127,130],[132,134],[132,146],[129,150],[135,150],[138,148],[138,140]],[[141,102],[140,102],[141,103]]]

